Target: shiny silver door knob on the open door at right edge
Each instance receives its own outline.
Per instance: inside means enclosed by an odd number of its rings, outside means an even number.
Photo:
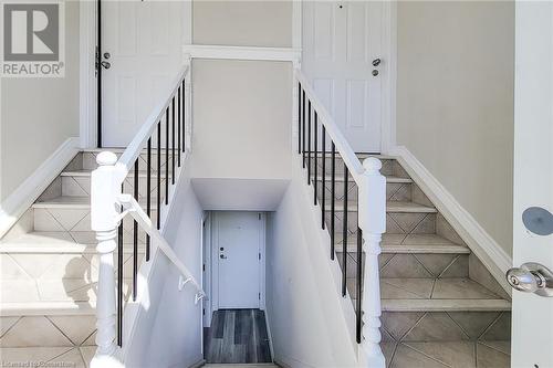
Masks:
[[[540,263],[528,262],[505,274],[512,288],[540,296],[553,296],[553,273]]]

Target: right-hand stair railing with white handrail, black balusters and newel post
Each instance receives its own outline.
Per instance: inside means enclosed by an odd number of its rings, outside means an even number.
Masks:
[[[349,175],[358,190],[356,231],[356,339],[362,345],[361,359],[366,367],[384,368],[385,359],[380,349],[380,276],[378,255],[382,234],[386,230],[386,178],[380,174],[382,162],[377,158],[366,158],[363,164],[341,133],[322,102],[317,98],[306,76],[294,70],[298,87],[298,155],[307,171],[307,185],[313,185],[314,206],[321,207],[321,225],[328,227],[331,236],[331,259],[334,260],[336,239],[342,236],[342,295],[347,295],[346,273],[348,230]],[[294,87],[295,88],[295,87]],[[295,94],[295,93],[294,93]],[[330,141],[326,138],[330,138]],[[313,146],[312,146],[313,144]],[[330,149],[330,155],[328,155]],[[336,154],[344,161],[343,168],[343,218],[342,233],[335,229],[336,214]],[[328,180],[326,160],[330,156],[330,209],[326,203]],[[321,165],[319,164],[321,161]],[[317,172],[321,170],[321,172]],[[317,189],[320,187],[320,200]],[[351,209],[351,208],[349,208]],[[330,215],[330,218],[327,218]],[[352,219],[349,219],[352,220]],[[327,224],[326,221],[330,223]],[[363,269],[363,253],[365,267]],[[363,283],[365,285],[363,285]]]

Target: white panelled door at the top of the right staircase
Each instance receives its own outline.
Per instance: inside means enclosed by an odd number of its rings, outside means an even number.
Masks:
[[[382,14],[379,1],[303,6],[302,69],[358,153],[380,151]]]

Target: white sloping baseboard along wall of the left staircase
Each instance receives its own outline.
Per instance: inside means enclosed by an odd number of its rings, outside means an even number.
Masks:
[[[0,239],[79,153],[77,137],[66,139],[0,204]]]

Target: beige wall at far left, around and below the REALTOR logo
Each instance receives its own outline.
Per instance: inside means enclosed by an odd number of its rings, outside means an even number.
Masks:
[[[2,78],[0,201],[79,136],[79,1],[65,1],[65,77]]]

